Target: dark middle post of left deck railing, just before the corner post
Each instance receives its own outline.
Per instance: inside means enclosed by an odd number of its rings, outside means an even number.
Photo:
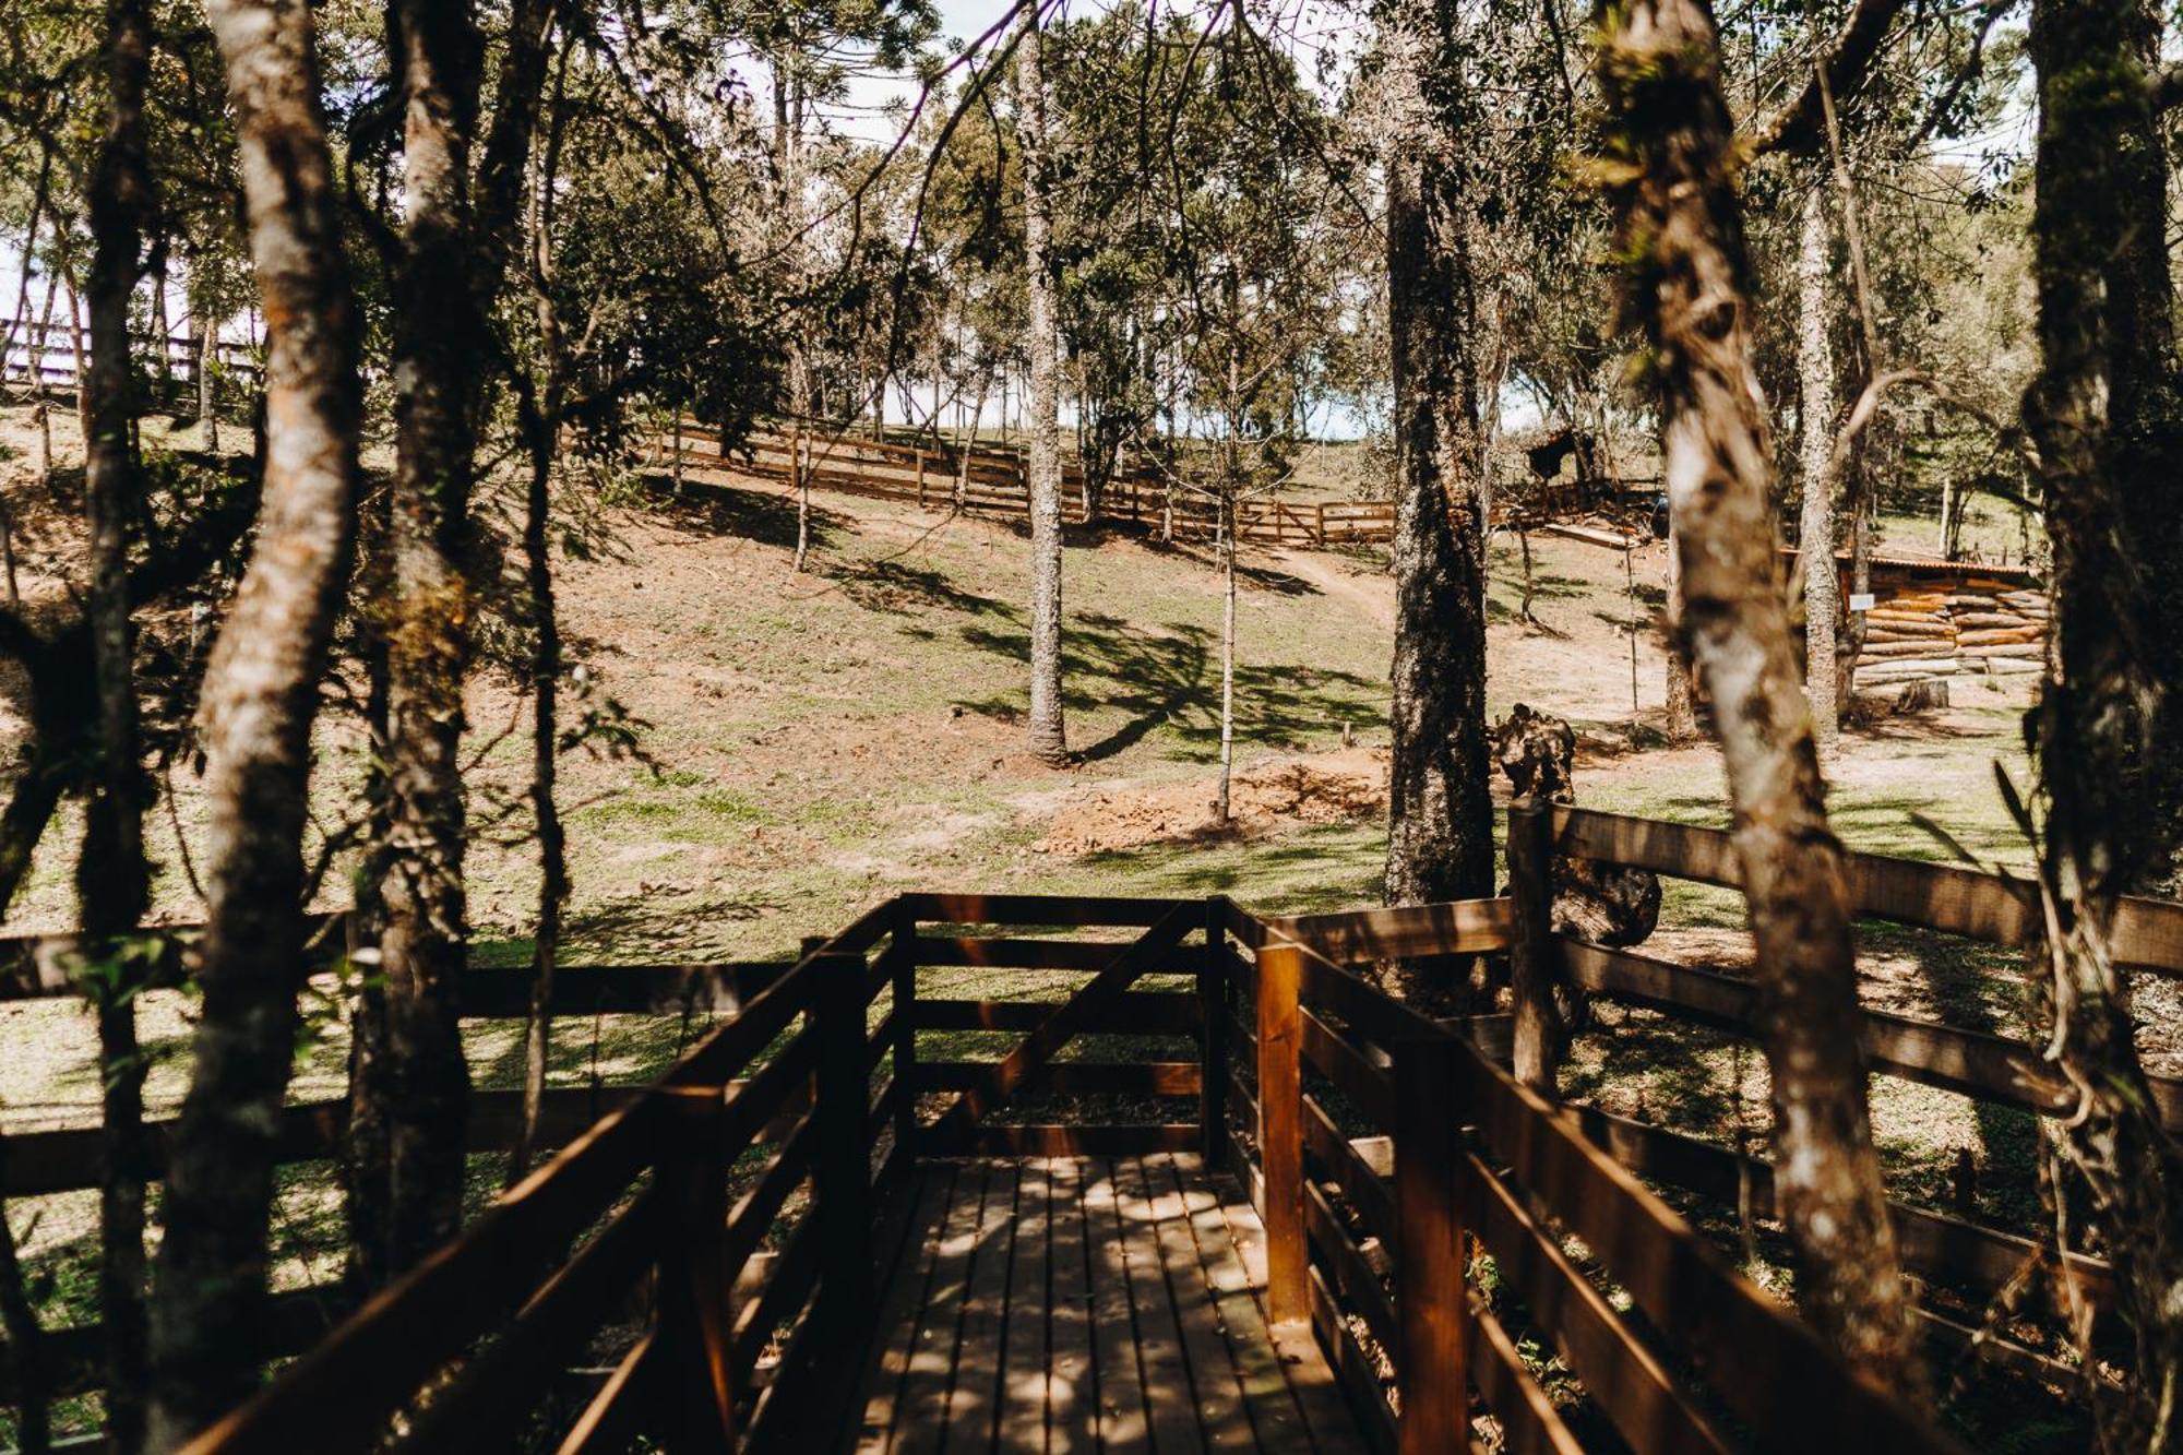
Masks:
[[[871,1077],[864,1073],[864,957],[823,955],[812,963],[812,1033],[819,1038],[819,1101],[812,1108],[812,1212],[819,1221],[819,1282],[830,1317],[871,1313]]]

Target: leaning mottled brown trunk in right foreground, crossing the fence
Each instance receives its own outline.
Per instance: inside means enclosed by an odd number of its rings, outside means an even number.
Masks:
[[[1775,1197],[1799,1300],[1866,1376],[1917,1383],[1858,1046],[1842,845],[1775,575],[1773,448],[1746,336],[1751,260],[1718,37],[1701,0],[1633,0],[1600,44],[1629,312],[1661,400],[1683,620],[1714,703],[1757,942]]]

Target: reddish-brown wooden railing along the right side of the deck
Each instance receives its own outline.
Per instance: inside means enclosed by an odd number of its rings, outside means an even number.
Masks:
[[[1249,950],[1216,957],[1240,990],[1238,1060],[1255,1066],[1227,1095],[1231,1121],[1251,1129],[1231,1156],[1266,1219],[1268,1315],[1310,1315],[1382,1448],[1465,1448],[1467,1385],[1508,1448],[1583,1448],[1519,1355],[1528,1330],[1631,1448],[1949,1448],[1849,1376],[1576,1119],[1495,1066],[1506,1022],[1480,1036],[1425,1020],[1345,968],[1508,950],[1506,900],[1301,920],[1231,911],[1225,928]],[[1598,1267],[1572,1261],[1572,1234]],[[1528,1330],[1467,1291],[1467,1239]]]

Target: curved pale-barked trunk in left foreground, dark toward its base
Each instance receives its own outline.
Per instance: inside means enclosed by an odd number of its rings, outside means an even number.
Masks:
[[[303,0],[207,0],[266,319],[258,540],[203,690],[203,1012],[162,1199],[151,1444],[258,1385],[279,1105],[303,959],[310,723],[349,564],[360,389]]]

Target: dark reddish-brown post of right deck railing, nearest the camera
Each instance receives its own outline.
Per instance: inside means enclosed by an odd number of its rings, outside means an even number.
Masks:
[[[1401,1348],[1401,1455],[1471,1448],[1463,1289],[1458,1049],[1447,1038],[1395,1046],[1395,1313]]]

